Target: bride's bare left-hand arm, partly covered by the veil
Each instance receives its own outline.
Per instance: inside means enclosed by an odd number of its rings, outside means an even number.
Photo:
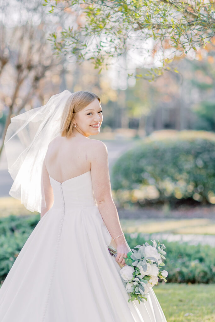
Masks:
[[[47,211],[53,206],[53,203],[54,203],[53,189],[50,183],[48,171],[45,166],[45,160],[43,162],[43,167],[42,167],[41,192],[42,192],[42,203],[41,203],[40,219],[44,216],[45,213],[47,213]]]

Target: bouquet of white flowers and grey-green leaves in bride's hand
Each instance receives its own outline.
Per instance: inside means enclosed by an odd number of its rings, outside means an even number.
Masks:
[[[131,298],[129,301],[138,300],[139,303],[147,301],[146,295],[149,289],[158,284],[158,277],[165,282],[168,272],[166,270],[161,271],[161,267],[165,264],[161,258],[166,259],[164,255],[166,248],[164,244],[158,244],[155,240],[151,240],[152,246],[149,243],[137,245],[127,253],[127,258],[124,257],[126,265],[124,265],[120,274],[124,282],[126,282],[126,291],[130,293]],[[112,246],[108,246],[108,250],[111,255],[116,257],[116,249]]]

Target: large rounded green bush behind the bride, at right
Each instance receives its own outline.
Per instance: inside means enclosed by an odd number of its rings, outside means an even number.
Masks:
[[[187,199],[215,203],[215,134],[181,131],[148,137],[112,168],[116,201],[174,204]]]

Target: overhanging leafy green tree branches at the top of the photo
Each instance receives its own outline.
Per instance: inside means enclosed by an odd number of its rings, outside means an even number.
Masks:
[[[64,14],[49,38],[56,53],[92,60],[101,71],[112,64],[109,58],[132,50],[150,58],[151,69],[136,75],[148,79],[177,71],[173,58],[204,47],[215,33],[214,0],[44,0],[43,5],[53,16]]]

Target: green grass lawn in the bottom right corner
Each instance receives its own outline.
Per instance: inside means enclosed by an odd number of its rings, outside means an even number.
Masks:
[[[159,283],[154,291],[167,322],[215,321],[215,284]]]

